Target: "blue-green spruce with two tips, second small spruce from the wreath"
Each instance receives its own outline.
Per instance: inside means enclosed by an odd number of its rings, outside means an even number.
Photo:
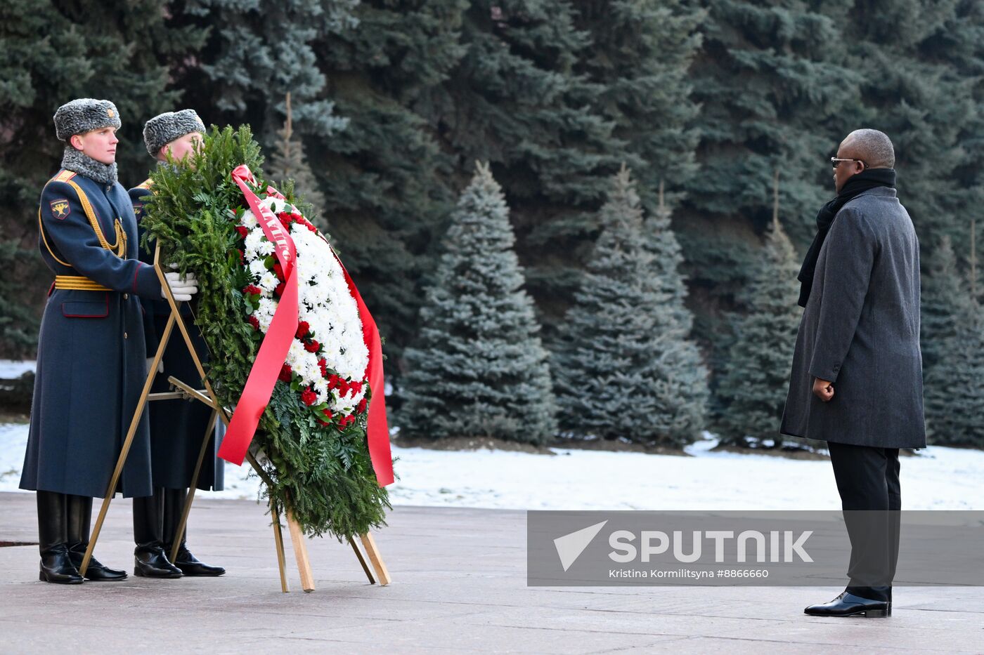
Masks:
[[[580,437],[690,443],[704,427],[707,370],[687,339],[668,218],[650,218],[644,232],[623,166],[599,222],[584,284],[554,347],[561,428]]]

